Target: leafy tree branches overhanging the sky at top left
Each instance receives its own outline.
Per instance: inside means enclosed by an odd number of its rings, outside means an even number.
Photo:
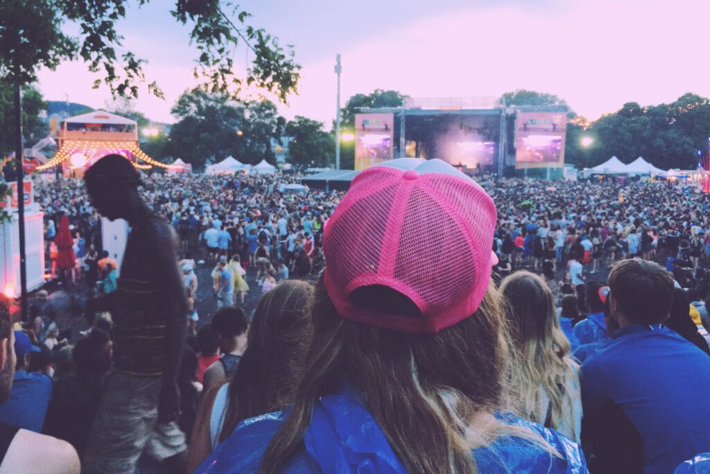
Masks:
[[[138,6],[150,0],[138,0]],[[190,40],[199,55],[193,74],[200,87],[236,97],[242,87],[254,86],[275,93],[286,102],[295,92],[300,65],[293,47],[282,47],[278,38],[247,21],[250,14],[220,0],[174,0],[170,14],[178,23],[192,25]],[[0,2],[0,78],[17,84],[34,82],[41,67],[53,70],[78,52],[92,72],[103,72],[102,82],[114,95],[138,97],[145,82],[143,63],[122,50],[123,38],[116,23],[126,17],[129,0],[3,0]],[[231,9],[231,11],[225,11]],[[234,19],[233,19],[234,18]],[[64,23],[80,28],[77,38],[62,32]],[[234,51],[244,43],[253,62],[244,76],[235,68]],[[120,52],[119,52],[120,51]],[[155,82],[148,92],[163,97]]]

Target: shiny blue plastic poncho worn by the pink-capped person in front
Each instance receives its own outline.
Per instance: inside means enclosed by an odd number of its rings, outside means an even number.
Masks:
[[[278,411],[242,422],[195,473],[258,473],[268,443],[287,417],[288,411]],[[562,457],[522,438],[499,438],[488,448],[474,450],[480,473],[586,473],[574,441],[513,415],[501,419],[537,433]],[[347,390],[315,404],[303,446],[283,473],[406,473],[373,416]]]

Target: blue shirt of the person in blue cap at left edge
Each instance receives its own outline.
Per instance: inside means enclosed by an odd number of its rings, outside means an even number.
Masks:
[[[0,404],[0,421],[41,433],[51,398],[52,379],[40,372],[18,370],[13,378],[10,398]]]

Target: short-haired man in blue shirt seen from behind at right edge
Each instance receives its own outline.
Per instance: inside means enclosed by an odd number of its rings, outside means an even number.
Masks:
[[[663,327],[673,277],[645,260],[609,275],[613,334],[581,367],[581,441],[592,472],[672,473],[710,451],[710,358]]]

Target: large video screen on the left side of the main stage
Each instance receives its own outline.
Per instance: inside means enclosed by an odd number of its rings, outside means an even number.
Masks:
[[[391,160],[394,114],[355,114],[355,169]]]

